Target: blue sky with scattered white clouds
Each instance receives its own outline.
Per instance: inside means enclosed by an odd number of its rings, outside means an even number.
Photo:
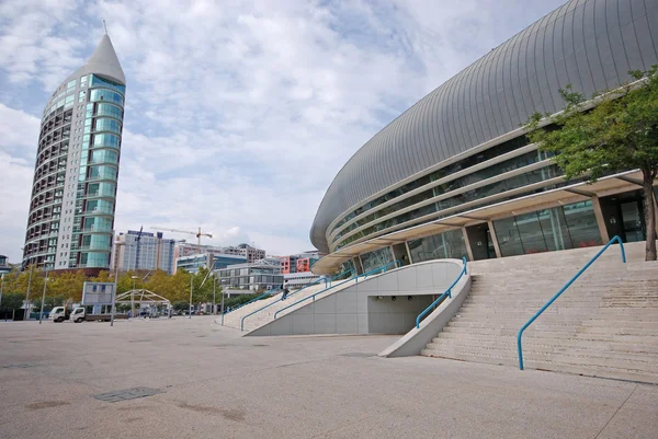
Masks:
[[[127,81],[115,229],[284,255],[363,143],[561,3],[0,1],[0,254],[22,257],[41,115],[103,19]]]

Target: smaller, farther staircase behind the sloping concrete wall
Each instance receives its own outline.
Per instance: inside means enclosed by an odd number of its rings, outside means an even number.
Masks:
[[[374,276],[373,276],[374,277]],[[371,277],[368,277],[370,279]],[[360,280],[361,281],[361,280]],[[342,285],[338,286],[339,284],[343,282]],[[350,280],[350,281],[344,281],[344,280],[334,280],[333,281],[333,288],[329,289],[327,292],[318,294],[316,297],[316,299],[319,299],[321,297],[325,297],[325,294],[332,294],[334,292],[338,292],[340,290],[342,290],[343,288],[348,288],[349,286],[354,285],[354,280]],[[271,307],[266,308],[263,311],[260,311],[251,316],[249,316],[248,319],[245,320],[245,333],[251,332],[258,327],[261,327],[262,325],[271,322],[272,320],[274,320],[274,313],[279,310],[284,309],[285,307],[290,307],[291,304],[305,299],[309,296],[313,296],[317,292],[320,292],[325,290],[325,284],[318,284],[318,285],[314,285],[311,287],[307,287],[304,288],[302,290],[297,291],[291,291],[291,293],[288,294],[286,300],[281,300],[281,293],[277,293],[275,296],[273,296],[272,298],[269,299],[263,299],[263,300],[259,300],[256,301],[253,303],[250,303],[246,307],[240,308],[239,310],[236,310],[234,312],[230,312],[228,314],[226,314],[224,316],[224,326],[229,326],[229,327],[234,327],[236,330],[240,328],[240,322],[242,320],[243,316],[252,313],[256,310],[259,310],[270,303],[273,303]],[[288,312],[292,312],[300,307],[304,307],[308,303],[311,303],[313,299],[309,299],[307,301],[304,301],[295,307],[292,307],[287,310],[285,310],[284,312],[280,313],[279,316],[285,315]],[[215,319],[215,323],[220,324],[222,323],[222,317],[217,317]]]

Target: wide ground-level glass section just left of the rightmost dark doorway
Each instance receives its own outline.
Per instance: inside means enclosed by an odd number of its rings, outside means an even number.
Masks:
[[[497,220],[494,228],[503,257],[602,244],[590,200]]]

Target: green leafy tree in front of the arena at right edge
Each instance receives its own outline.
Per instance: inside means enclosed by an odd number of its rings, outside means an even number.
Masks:
[[[643,201],[647,228],[646,261],[656,261],[654,181],[658,175],[658,66],[648,72],[628,72],[635,83],[593,96],[600,101],[588,109],[585,95],[571,85],[560,89],[566,103],[556,115],[531,116],[527,137],[553,160],[566,178],[601,176],[632,169],[643,174]],[[643,85],[637,81],[642,80]],[[547,119],[547,120],[545,120]],[[543,128],[541,123],[548,122]],[[542,124],[543,125],[543,124]]]

